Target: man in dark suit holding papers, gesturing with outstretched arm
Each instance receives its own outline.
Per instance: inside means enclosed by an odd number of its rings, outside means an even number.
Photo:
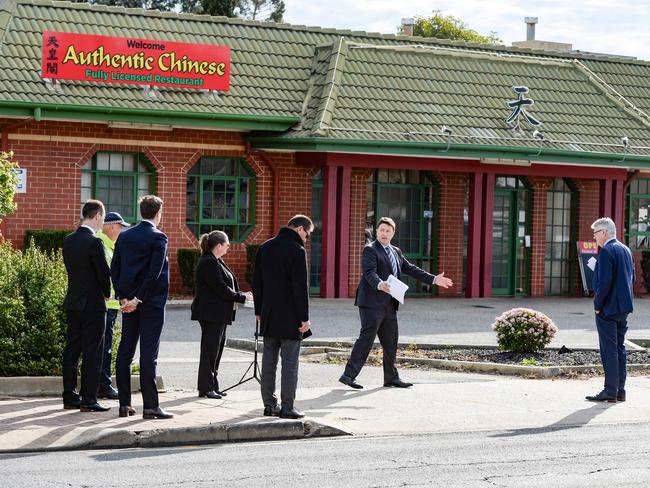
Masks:
[[[413,386],[412,383],[400,379],[395,366],[399,302],[390,295],[388,277],[393,275],[399,279],[402,274],[406,274],[416,280],[443,288],[453,285],[444,273],[434,276],[409,263],[402,251],[391,245],[390,241],[394,235],[395,222],[389,217],[382,217],[377,223],[377,240],[367,245],[361,256],[361,281],[354,302],[359,307],[361,332],[354,343],[345,372],[339,378],[341,383],[352,388],[363,388],[355,378],[363,368],[377,336],[384,350],[384,386]]]

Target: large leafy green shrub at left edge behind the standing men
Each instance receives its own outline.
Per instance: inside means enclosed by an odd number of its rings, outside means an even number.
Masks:
[[[0,243],[0,375],[57,375],[65,346],[61,252]]]

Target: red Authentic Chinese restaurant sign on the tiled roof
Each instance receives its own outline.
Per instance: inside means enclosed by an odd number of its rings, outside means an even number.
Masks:
[[[230,48],[43,32],[43,78],[228,90]]]

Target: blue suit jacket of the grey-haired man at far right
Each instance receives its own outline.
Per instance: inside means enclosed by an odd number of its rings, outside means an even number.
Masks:
[[[598,251],[594,269],[594,310],[606,317],[632,312],[635,279],[634,261],[628,247],[616,239],[607,242]]]

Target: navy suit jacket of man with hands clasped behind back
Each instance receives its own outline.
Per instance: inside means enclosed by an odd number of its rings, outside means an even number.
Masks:
[[[164,308],[169,291],[167,236],[146,221],[120,233],[111,278],[118,299],[138,297],[148,306]]]

